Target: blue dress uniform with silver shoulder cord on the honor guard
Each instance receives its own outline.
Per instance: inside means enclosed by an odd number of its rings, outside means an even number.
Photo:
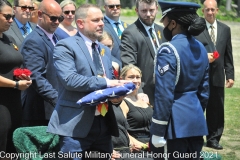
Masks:
[[[164,2],[161,8],[179,5],[182,2]],[[167,140],[165,152],[184,148],[183,143],[177,143],[178,139],[202,138],[208,134],[204,117],[209,97],[208,69],[206,49],[185,32],[176,34],[170,42],[160,46],[155,58],[155,106],[150,132]],[[203,144],[203,138],[200,143]],[[159,152],[163,152],[161,148]],[[194,148],[180,152],[193,151]]]

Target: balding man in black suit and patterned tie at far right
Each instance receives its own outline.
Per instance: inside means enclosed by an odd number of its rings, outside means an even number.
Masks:
[[[214,149],[222,149],[219,144],[224,129],[224,82],[226,76],[226,88],[234,84],[234,66],[232,55],[230,28],[216,20],[218,12],[215,0],[204,1],[202,9],[206,20],[206,30],[198,37],[207,49],[210,63],[209,84],[210,97],[206,108],[208,125],[207,146]],[[213,27],[212,27],[213,26]],[[213,51],[217,50],[219,58],[214,59]]]

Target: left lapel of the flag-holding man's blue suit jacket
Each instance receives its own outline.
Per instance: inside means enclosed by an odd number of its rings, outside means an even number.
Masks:
[[[85,55],[87,61],[88,61],[88,64],[89,66],[91,67],[92,69],[92,72],[95,76],[97,76],[97,70],[93,64],[93,60],[92,60],[92,57],[90,56],[90,53],[88,51],[88,48],[87,46],[85,45],[85,42],[84,40],[82,39],[82,37],[80,36],[79,33],[76,34],[76,42],[77,44],[79,45],[80,49],[82,50],[83,54]]]

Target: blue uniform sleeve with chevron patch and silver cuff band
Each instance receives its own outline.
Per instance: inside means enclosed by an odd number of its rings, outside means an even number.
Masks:
[[[174,99],[177,60],[169,47],[160,48],[155,65],[155,106],[150,132],[164,137]]]

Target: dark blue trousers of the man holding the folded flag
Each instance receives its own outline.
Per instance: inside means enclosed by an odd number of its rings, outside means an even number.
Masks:
[[[79,128],[79,130],[84,128]],[[60,137],[59,159],[109,160],[113,151],[112,139],[106,118],[95,116],[90,132],[85,138]]]

